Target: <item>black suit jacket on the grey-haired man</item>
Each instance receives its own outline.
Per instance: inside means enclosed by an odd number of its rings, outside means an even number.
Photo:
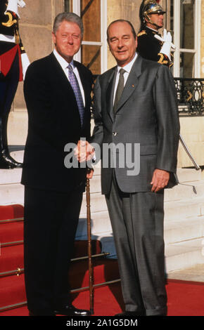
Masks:
[[[55,55],[42,58],[28,67],[24,94],[28,112],[22,183],[39,189],[69,192],[82,187],[86,169],[67,169],[64,152],[67,143],[90,136],[91,72],[75,62],[85,95],[84,125],[72,87]]]

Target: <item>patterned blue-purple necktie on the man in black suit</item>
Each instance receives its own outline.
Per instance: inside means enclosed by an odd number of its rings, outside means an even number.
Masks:
[[[82,93],[80,91],[79,88],[79,83],[77,81],[77,78],[75,76],[75,73],[72,70],[72,65],[68,65],[68,76],[70,79],[70,84],[72,86],[72,89],[75,93],[75,98],[77,101],[77,105],[79,108],[79,115],[80,115],[80,119],[81,119],[81,126],[83,126],[83,121],[84,121],[84,102],[82,99]]]

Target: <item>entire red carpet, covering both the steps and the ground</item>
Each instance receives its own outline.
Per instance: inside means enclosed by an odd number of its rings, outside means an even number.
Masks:
[[[6,213],[7,209],[7,213]],[[0,219],[20,218],[23,206],[0,206]],[[2,272],[23,268],[23,222],[0,223],[1,242],[15,242],[15,245],[1,247],[0,263],[0,311],[1,308],[26,301],[24,275],[2,276]],[[93,254],[101,253],[101,243],[92,242]],[[75,257],[84,256],[87,241],[75,242]],[[72,262],[70,268],[72,289],[89,286],[88,260]],[[94,284],[119,278],[117,260],[94,258]],[[167,281],[168,316],[204,316],[204,283]],[[89,291],[72,293],[73,305],[89,309]],[[120,282],[99,286],[94,289],[94,316],[112,316],[124,310]],[[15,308],[0,312],[0,316],[27,316],[27,308]]]

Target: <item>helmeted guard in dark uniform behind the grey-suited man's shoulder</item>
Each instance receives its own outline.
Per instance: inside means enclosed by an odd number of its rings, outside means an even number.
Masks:
[[[144,0],[140,6],[141,28],[137,35],[137,52],[147,60],[153,60],[170,67],[172,65],[171,50],[174,49],[170,32],[164,29],[163,37],[158,30],[163,27],[163,15],[159,1]]]

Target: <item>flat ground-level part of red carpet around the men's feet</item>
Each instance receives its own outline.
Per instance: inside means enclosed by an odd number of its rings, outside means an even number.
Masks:
[[[203,283],[177,282],[167,284],[167,316],[204,316]],[[89,309],[89,291],[73,294],[73,304],[77,308]],[[123,309],[120,284],[111,284],[94,289],[94,316],[112,316]],[[1,312],[2,316],[27,316],[27,308],[15,308]]]

